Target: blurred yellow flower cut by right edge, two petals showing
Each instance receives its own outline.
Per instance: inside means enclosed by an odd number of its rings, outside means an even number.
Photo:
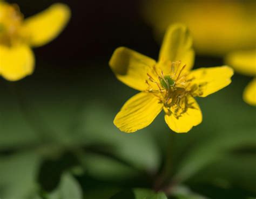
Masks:
[[[238,73],[254,76],[245,88],[243,98],[246,103],[256,106],[256,49],[230,53],[226,56],[226,62]]]

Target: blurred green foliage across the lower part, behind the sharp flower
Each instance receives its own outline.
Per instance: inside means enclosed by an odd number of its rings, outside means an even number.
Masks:
[[[214,62],[197,63],[207,61]],[[246,77],[198,99],[203,123],[186,134],[170,132],[163,115],[126,134],[113,117],[136,91],[117,83],[106,63],[48,65],[23,81],[1,81],[1,198],[166,198],[152,191],[166,159],[170,198],[256,195],[256,115],[241,98]]]

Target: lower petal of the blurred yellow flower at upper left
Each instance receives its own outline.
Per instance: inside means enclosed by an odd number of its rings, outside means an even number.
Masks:
[[[9,81],[17,81],[33,73],[35,59],[28,46],[0,45],[0,74]]]

